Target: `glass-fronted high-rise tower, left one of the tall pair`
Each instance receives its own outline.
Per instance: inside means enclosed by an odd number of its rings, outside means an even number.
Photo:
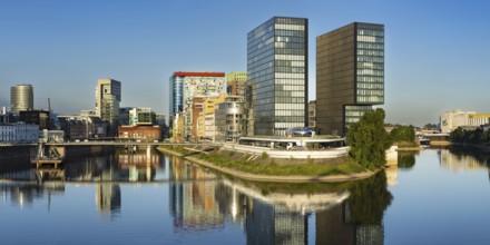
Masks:
[[[273,17],[248,32],[255,135],[283,136],[307,125],[307,19],[288,17]]]

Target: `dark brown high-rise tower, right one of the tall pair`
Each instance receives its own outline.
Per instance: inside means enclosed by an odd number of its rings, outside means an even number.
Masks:
[[[316,38],[316,133],[344,135],[384,104],[384,26],[353,22]]]

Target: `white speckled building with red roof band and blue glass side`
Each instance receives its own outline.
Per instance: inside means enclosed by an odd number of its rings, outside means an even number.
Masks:
[[[176,114],[192,104],[194,96],[220,96],[226,94],[224,72],[176,71],[169,79],[170,122]]]

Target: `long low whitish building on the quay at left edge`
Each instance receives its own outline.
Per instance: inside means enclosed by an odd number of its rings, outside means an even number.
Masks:
[[[37,143],[38,139],[39,125],[0,125],[1,143]]]

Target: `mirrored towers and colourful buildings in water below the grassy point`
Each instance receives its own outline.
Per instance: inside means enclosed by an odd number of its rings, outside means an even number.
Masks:
[[[340,190],[321,184],[316,192],[264,192],[252,183],[212,179],[179,158],[170,168],[176,231],[223,228],[227,219],[244,227],[247,244],[307,244],[308,216],[316,214],[316,244],[384,242],[382,220],[392,199],[384,173]]]

